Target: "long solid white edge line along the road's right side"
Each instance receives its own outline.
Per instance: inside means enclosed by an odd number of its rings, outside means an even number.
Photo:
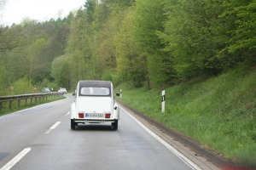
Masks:
[[[120,107],[120,106],[119,106]],[[120,107],[123,111],[125,111],[124,108]],[[128,111],[125,111],[127,113],[127,115],[131,116],[130,113],[128,113]],[[143,125],[142,122],[139,122],[137,120],[137,118],[135,118],[134,116],[131,116],[131,118],[136,121],[141,127],[143,127],[143,129],[145,131],[147,131],[149,134],[151,134],[155,139],[157,139],[161,144],[164,144],[166,146],[166,148],[168,148],[168,150],[171,150],[172,153],[174,153],[177,157],[179,157],[183,162],[185,162],[189,167],[191,167],[192,169],[195,170],[201,170],[200,167],[198,167],[197,165],[195,165],[195,163],[193,161],[190,161],[189,158],[187,158],[186,156],[183,156],[182,153],[180,153],[178,150],[176,150],[174,147],[172,147],[172,145],[168,144],[164,139],[161,139],[157,134],[155,134],[154,132],[152,132],[148,127],[146,127],[145,125]]]

